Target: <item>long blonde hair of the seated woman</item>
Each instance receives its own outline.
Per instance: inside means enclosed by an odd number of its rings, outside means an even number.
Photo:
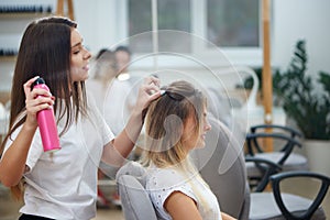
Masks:
[[[164,95],[152,102],[146,112],[146,138],[141,162],[144,166],[153,164],[158,168],[175,168],[187,179],[197,178],[208,187],[190,162],[188,150],[182,140],[184,127],[190,117],[194,117],[196,122],[194,135],[199,135],[202,129],[204,109],[207,105],[206,97],[184,80],[174,81],[163,89]],[[206,198],[191,182],[188,183],[201,205],[208,209]]]

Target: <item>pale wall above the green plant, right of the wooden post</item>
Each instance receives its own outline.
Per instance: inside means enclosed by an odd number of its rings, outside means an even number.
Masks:
[[[330,1],[273,1],[272,61],[286,67],[299,38],[306,40],[308,74],[330,73]]]

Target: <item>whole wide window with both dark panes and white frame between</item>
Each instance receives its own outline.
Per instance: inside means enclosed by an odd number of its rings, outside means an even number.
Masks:
[[[152,0],[123,4],[125,36],[134,36],[128,42],[133,54],[153,52]],[[262,63],[258,0],[157,0],[157,21],[160,31],[191,33],[204,40],[196,43],[185,34],[166,32],[157,35],[158,51],[198,53],[212,59],[220,47],[232,63]]]

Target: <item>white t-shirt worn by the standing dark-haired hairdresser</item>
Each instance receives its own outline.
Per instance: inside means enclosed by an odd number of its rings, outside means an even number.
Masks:
[[[87,220],[96,216],[97,167],[103,146],[113,139],[99,111],[89,111],[89,118],[73,123],[61,136],[62,148],[44,153],[36,131],[24,175],[26,188],[22,213],[53,219]],[[64,128],[65,119],[57,127]],[[21,128],[12,135],[15,139]],[[7,142],[6,150],[12,142]]]

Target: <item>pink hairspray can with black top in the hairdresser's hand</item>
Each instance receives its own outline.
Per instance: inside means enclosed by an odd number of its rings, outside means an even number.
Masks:
[[[33,82],[32,87],[50,91],[50,88],[45,85],[43,78],[37,78]],[[59,150],[59,138],[57,134],[57,127],[55,122],[53,107],[51,109],[43,109],[38,111],[36,113],[36,120],[44,146],[44,152]]]

